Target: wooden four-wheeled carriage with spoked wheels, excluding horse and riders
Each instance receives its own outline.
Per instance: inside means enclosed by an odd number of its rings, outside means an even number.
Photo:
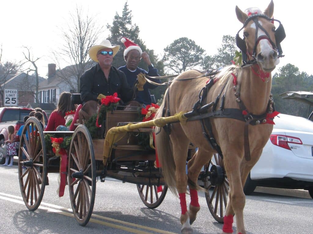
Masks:
[[[136,121],[138,121],[137,110],[106,112],[106,133],[112,127],[123,125],[125,122]],[[26,207],[31,211],[39,207],[44,195],[48,173],[60,173],[60,177],[62,177],[62,173],[63,176],[66,173],[74,217],[82,226],[88,223],[92,214],[96,183],[104,182],[105,177],[136,184],[139,197],[146,207],[158,207],[167,193],[167,186],[164,183],[160,168],[155,166],[155,150],[152,148],[145,149],[146,147],[138,145],[137,137],[139,133],[147,134],[149,137],[152,131],[152,128],[140,128],[114,142],[110,157],[104,166],[105,139],[92,139],[84,124],[77,126],[74,132],[43,132],[38,120],[29,118],[23,129],[18,159],[20,188]],[[65,151],[65,158],[60,155],[60,160],[59,157],[56,157],[58,152],[53,153],[51,147],[46,145],[45,136],[47,135],[63,139],[71,137],[69,149]],[[22,152],[27,156],[26,161],[22,160]],[[191,158],[194,153],[195,146],[190,145],[188,158]],[[225,178],[225,172],[220,166],[221,160],[216,155],[215,158],[217,165],[212,162],[212,165],[214,164],[212,171],[209,171],[207,167],[199,179],[204,181],[204,185],[208,189],[215,186],[213,195],[212,191],[209,191],[206,197],[213,217],[219,222],[223,222],[223,209],[227,204],[228,182]],[[68,160],[65,163],[67,165],[65,171],[60,171],[62,160]],[[23,170],[22,166],[26,166],[27,169]],[[223,188],[223,192],[220,188]],[[213,198],[216,198],[216,203],[214,203]],[[221,202],[218,202],[218,199]]]

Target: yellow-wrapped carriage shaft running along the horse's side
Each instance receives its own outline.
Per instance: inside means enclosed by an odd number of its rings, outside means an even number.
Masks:
[[[141,122],[138,124],[127,124],[125,126],[120,127],[113,127],[111,128],[106,136],[104,141],[104,147],[103,147],[103,164],[106,166],[108,158],[112,151],[112,146],[115,142],[122,139],[126,132],[131,132],[136,129],[140,128],[151,128],[151,127],[163,127],[165,124],[172,123],[172,122],[186,122],[187,118],[184,116],[184,112],[180,112],[176,115],[170,116],[170,117],[161,117],[158,119],[152,119],[150,121]]]

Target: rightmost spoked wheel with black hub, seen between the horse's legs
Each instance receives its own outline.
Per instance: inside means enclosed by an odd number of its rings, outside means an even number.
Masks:
[[[214,154],[207,167],[209,176],[204,181],[205,198],[213,218],[223,223],[229,191],[223,159],[218,154]]]

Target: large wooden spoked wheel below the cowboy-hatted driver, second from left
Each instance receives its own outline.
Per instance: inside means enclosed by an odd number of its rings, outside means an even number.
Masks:
[[[91,217],[96,193],[95,154],[85,125],[79,125],[72,137],[68,179],[74,217],[81,226],[85,226]]]

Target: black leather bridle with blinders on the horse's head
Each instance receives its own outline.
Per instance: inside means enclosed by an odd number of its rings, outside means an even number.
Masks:
[[[270,22],[273,22],[273,21],[279,22],[279,27],[274,32],[275,33],[276,44],[274,43],[274,41],[272,41],[270,39],[269,33],[260,25],[260,23],[258,21],[258,17],[265,18],[266,20],[269,20]],[[250,20],[253,20],[254,23],[255,23],[255,41],[254,41],[253,52],[252,52],[252,55],[251,55],[253,59],[251,59],[251,60],[248,59],[246,42],[245,42],[244,39],[242,39],[239,36],[239,32],[244,27],[247,26],[247,24],[250,22]],[[259,28],[265,33],[265,35],[261,35],[260,37],[257,37]],[[283,25],[281,24],[281,22],[279,20],[270,19],[268,16],[266,16],[264,14],[252,14],[252,15],[250,15],[244,21],[243,27],[240,28],[240,30],[237,32],[237,35],[236,35],[236,44],[239,47],[239,49],[241,50],[241,52],[242,52],[242,63],[243,63],[242,67],[251,66],[251,65],[257,63],[257,61],[256,61],[256,47],[257,47],[259,41],[263,40],[263,39],[267,39],[271,43],[273,49],[276,50],[277,53],[278,53],[278,58],[284,57],[283,51],[282,51],[281,46],[280,46],[280,42],[282,42],[285,39],[285,37],[286,37],[285,29],[284,29]]]

